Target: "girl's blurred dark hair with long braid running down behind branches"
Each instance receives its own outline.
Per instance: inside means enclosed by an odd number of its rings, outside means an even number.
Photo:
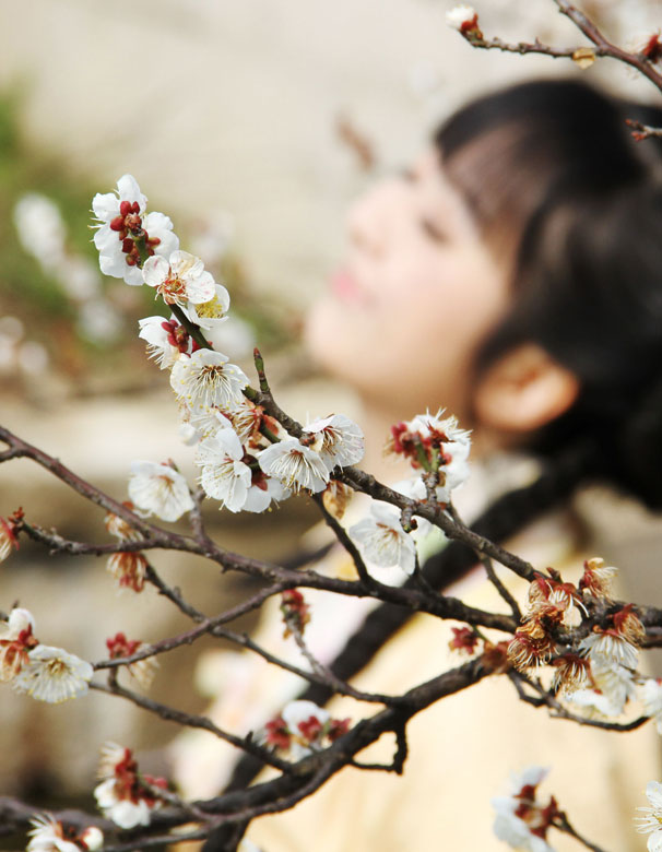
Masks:
[[[534,439],[540,478],[473,524],[496,542],[590,480],[662,506],[662,146],[635,142],[626,118],[662,126],[662,110],[578,82],[541,81],[474,100],[435,138],[446,175],[513,270],[512,309],[484,342],[476,371],[535,342],[581,386],[571,411]],[[424,572],[444,589],[475,561],[453,542]],[[411,615],[375,610],[334,674],[360,671]],[[330,695],[312,685],[304,697],[323,703]],[[244,757],[230,789],[258,768]]]

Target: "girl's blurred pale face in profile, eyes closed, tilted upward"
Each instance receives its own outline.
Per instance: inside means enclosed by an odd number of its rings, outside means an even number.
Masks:
[[[470,425],[472,366],[508,308],[508,274],[430,152],[350,211],[348,248],[310,309],[312,356],[366,404],[438,406]]]

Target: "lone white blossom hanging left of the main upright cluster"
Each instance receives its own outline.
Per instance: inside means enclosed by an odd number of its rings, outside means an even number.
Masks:
[[[184,476],[169,464],[158,462],[131,462],[129,496],[139,509],[162,521],[177,521],[193,508]]]

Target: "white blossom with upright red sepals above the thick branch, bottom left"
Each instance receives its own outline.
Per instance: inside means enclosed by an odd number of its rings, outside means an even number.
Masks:
[[[115,743],[102,748],[98,774],[102,782],[94,797],[104,816],[120,828],[150,824],[152,812],[163,803],[158,790],[167,790],[164,778],[140,773],[131,749]]]

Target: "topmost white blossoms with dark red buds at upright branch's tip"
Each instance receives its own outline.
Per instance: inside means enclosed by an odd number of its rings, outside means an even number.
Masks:
[[[117,193],[99,193],[92,200],[97,220],[94,245],[105,275],[123,279],[127,284],[143,284],[140,255],[133,236],[143,235],[150,255],[170,257],[179,247],[173,223],[163,213],[146,213],[147,199],[131,175],[117,181]]]

